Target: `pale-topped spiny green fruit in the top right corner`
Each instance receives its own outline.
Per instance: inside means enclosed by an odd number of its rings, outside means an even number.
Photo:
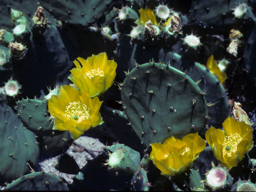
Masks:
[[[252,9],[245,3],[242,3],[238,5],[236,8],[234,8],[233,12],[235,18],[238,19],[250,19],[254,22],[256,22],[256,18],[254,17],[254,14],[252,13]]]

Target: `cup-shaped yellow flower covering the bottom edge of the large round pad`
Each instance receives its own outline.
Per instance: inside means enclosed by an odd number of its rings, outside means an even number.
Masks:
[[[206,143],[198,135],[191,133],[182,138],[168,138],[163,144],[151,144],[150,160],[161,170],[163,176],[180,175],[193,167],[193,162],[204,150]]]

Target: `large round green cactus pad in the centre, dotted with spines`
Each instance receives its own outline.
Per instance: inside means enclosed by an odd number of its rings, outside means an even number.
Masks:
[[[202,132],[208,120],[198,85],[166,64],[136,64],[123,82],[121,97],[127,118],[142,144],[163,143],[174,136]]]

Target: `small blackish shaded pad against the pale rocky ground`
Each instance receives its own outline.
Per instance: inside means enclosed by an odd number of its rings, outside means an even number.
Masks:
[[[80,168],[73,157],[64,153],[54,166],[57,170],[66,174],[78,174]]]

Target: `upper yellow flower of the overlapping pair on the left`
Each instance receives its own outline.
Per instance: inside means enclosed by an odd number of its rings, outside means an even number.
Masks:
[[[76,68],[70,70],[72,73],[69,79],[77,88],[84,89],[91,98],[102,96],[102,94],[110,88],[116,77],[117,64],[114,60],[108,60],[106,53],[92,55],[86,60],[77,58],[74,61]]]

